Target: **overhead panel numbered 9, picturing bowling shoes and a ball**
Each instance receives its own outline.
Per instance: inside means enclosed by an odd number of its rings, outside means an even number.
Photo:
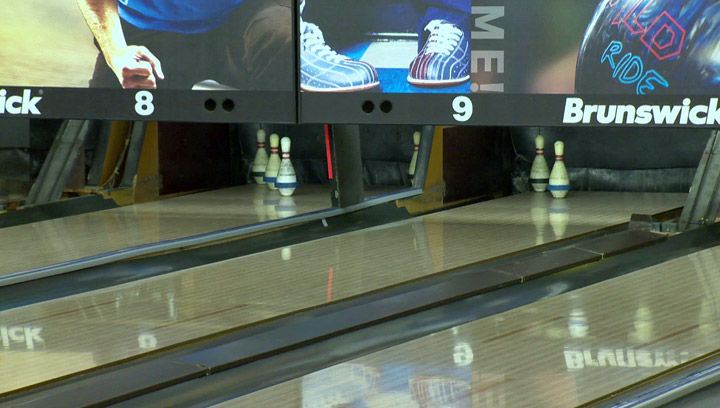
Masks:
[[[716,127],[719,22],[717,0],[308,0],[300,118]]]

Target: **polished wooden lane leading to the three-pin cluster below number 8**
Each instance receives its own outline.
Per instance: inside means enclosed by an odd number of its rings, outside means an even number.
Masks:
[[[0,276],[330,207],[327,185],[280,198],[247,185],[3,228]]]

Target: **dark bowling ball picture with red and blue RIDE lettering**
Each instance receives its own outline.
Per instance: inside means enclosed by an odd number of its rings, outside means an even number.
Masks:
[[[602,0],[578,55],[575,90],[720,91],[720,0]]]

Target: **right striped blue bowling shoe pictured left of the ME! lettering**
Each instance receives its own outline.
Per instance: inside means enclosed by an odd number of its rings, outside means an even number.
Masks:
[[[410,63],[408,82],[413,85],[455,85],[470,79],[470,44],[455,24],[433,20],[425,45]]]

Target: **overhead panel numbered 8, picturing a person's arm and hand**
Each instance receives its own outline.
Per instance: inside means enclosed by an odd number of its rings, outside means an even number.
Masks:
[[[4,0],[0,118],[295,122],[294,0]]]

